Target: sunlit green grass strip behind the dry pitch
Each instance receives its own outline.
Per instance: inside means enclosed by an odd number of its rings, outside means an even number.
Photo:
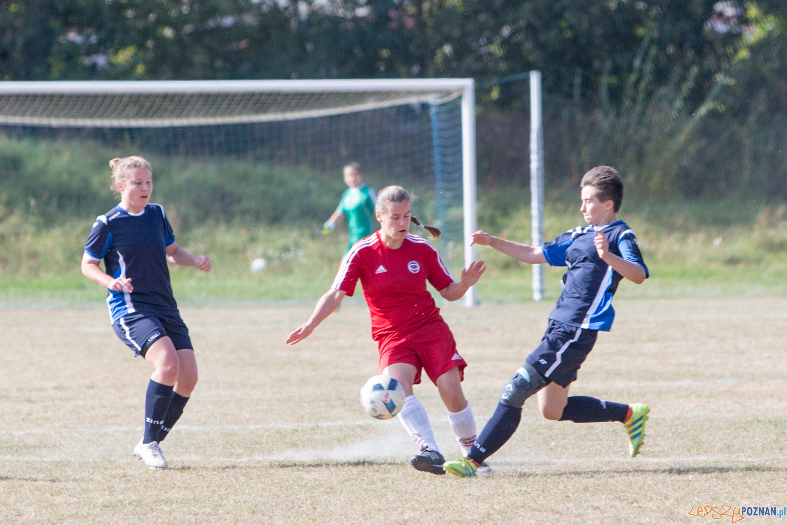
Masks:
[[[779,295],[787,292],[787,223],[783,208],[762,208],[748,224],[701,224],[690,208],[653,220],[650,213],[622,213],[637,232],[651,279],[641,286],[624,282],[621,297],[671,298],[685,296]],[[481,227],[494,235],[528,242],[530,214],[514,210],[486,221]],[[194,268],[172,267],[172,283],[181,302],[311,301],[323,294],[346,246],[346,233],[336,231],[313,238],[318,223],[275,226],[239,223],[203,224],[176,231],[178,242],[193,253],[207,253],[213,271],[204,275]],[[583,224],[574,205],[549,206],[545,238]],[[0,302],[102,301],[105,292],[79,274],[82,247],[90,221],[65,220],[42,227],[35,218],[20,214],[0,222]],[[458,275],[461,245],[438,246],[448,253]],[[249,270],[263,257],[268,267]],[[478,257],[489,270],[478,285],[481,301],[530,301],[530,268],[495,250],[479,247]],[[560,294],[565,268],[546,268],[546,298]]]

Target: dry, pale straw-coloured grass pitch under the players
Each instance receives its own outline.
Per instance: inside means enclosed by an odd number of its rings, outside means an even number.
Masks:
[[[295,347],[310,307],[183,309],[201,380],[168,471],[131,458],[150,368],[104,309],[4,309],[0,523],[707,523],[693,506],[787,504],[787,298],[616,303],[572,393],[648,403],[641,456],[619,423],[541,420],[529,402],[478,479],[413,470],[400,424],[360,411],[377,373],[363,306]],[[550,306],[443,309],[479,427]],[[456,456],[436,389],[416,394]]]

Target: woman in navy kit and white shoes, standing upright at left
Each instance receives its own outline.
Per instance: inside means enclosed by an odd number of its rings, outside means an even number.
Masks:
[[[172,296],[167,261],[209,272],[210,259],[179,247],[164,207],[149,204],[153,173],[148,161],[115,158],[109,168],[120,204],[93,224],[82,273],[108,289],[106,302],[118,338],[153,365],[145,398],[145,434],[134,455],[150,468],[167,468],[159,443],[183,414],[197,384],[197,361]],[[102,260],[106,272],[99,266]]]

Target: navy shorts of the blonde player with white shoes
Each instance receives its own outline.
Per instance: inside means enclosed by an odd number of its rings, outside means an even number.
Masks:
[[[178,314],[132,313],[120,317],[112,327],[120,341],[126,343],[138,356],[145,357],[148,347],[164,336],[172,339],[176,350],[194,349],[194,346],[191,346],[189,329]]]

